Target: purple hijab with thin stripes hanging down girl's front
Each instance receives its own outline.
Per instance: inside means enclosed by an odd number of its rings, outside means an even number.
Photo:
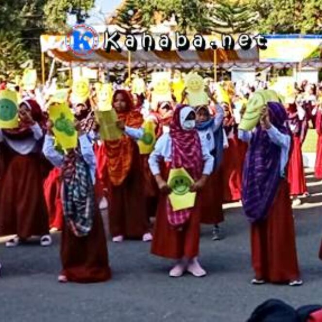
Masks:
[[[268,108],[271,124],[281,133],[289,134],[284,106],[269,102]],[[246,154],[242,183],[244,213],[252,223],[267,216],[281,180],[280,164],[281,148],[257,125]]]

